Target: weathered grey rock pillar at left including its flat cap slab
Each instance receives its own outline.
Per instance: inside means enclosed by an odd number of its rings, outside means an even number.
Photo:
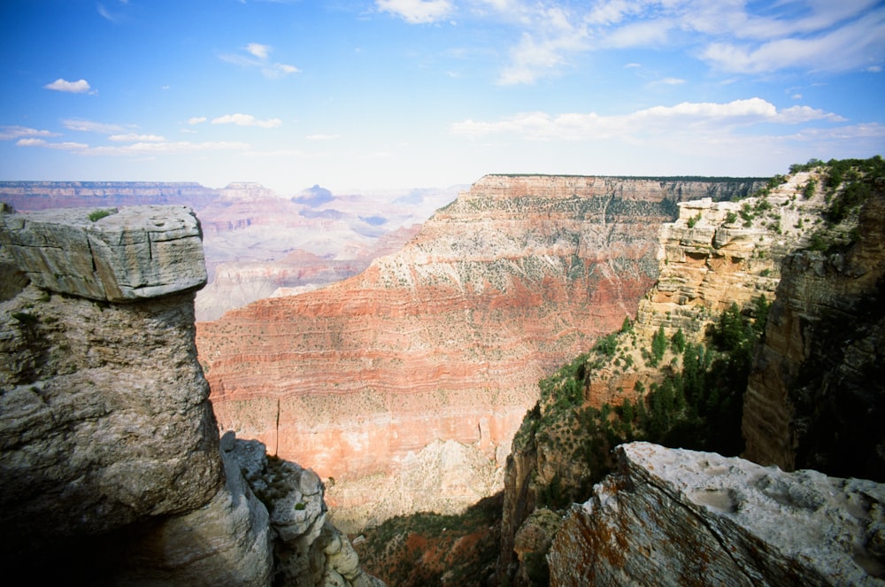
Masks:
[[[194,290],[205,269],[193,212],[8,212],[0,214],[7,568],[27,568],[36,583],[269,585],[297,568],[294,584],[370,584],[352,555],[339,556],[315,474],[283,475],[297,492],[266,496],[269,516],[242,478],[242,460],[230,446],[219,452],[194,344]],[[296,495],[304,512],[289,503]],[[309,515],[305,526],[283,523]],[[291,552],[287,564],[274,568],[274,548]]]

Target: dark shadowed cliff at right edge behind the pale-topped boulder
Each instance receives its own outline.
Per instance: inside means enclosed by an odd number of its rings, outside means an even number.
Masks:
[[[784,262],[744,400],[744,456],[885,482],[885,192]]]

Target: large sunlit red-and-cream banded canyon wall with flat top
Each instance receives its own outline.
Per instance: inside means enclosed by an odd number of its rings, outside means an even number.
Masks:
[[[337,522],[473,503],[538,379],[635,314],[677,202],[753,187],[482,178],[363,274],[199,324],[219,424],[335,476]]]

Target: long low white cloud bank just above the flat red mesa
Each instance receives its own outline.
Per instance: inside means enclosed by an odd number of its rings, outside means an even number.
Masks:
[[[612,116],[601,116],[596,112],[557,116],[546,112],[525,112],[496,122],[465,120],[452,125],[452,132],[470,137],[511,134],[540,141],[641,139],[649,135],[728,132],[735,127],[753,124],[796,125],[815,120],[839,122],[844,119],[808,106],[791,106],[779,112],[774,104],[754,97],[725,104],[683,102]]]

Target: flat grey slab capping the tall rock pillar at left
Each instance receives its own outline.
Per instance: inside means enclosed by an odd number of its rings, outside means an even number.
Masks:
[[[206,283],[203,233],[187,206],[0,214],[0,243],[31,282],[58,293],[126,302]]]

